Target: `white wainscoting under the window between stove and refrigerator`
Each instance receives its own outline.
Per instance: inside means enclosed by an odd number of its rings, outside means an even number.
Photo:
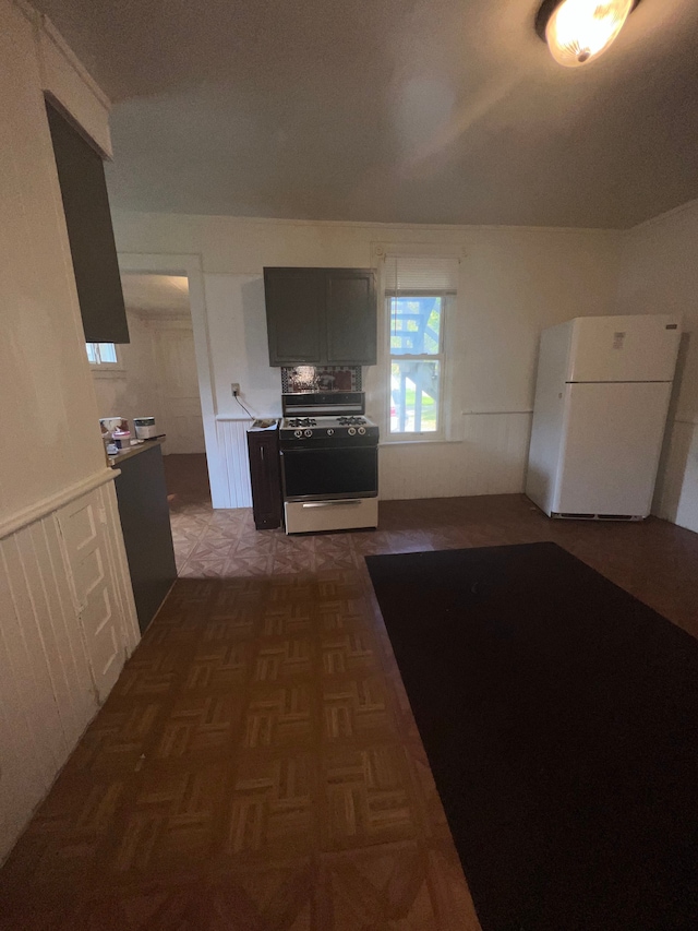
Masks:
[[[462,441],[383,444],[384,500],[507,494],[524,490],[532,414],[468,414]]]

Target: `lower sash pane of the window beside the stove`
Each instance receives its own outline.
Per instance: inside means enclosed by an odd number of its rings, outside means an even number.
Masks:
[[[438,430],[440,362],[393,361],[390,366],[390,433]]]

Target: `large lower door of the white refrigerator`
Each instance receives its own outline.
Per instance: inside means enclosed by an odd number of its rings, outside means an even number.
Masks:
[[[671,384],[569,384],[558,514],[647,517],[664,435]]]

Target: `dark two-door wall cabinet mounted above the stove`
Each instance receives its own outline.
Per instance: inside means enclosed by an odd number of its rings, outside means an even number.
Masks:
[[[269,365],[376,361],[371,268],[265,268]]]

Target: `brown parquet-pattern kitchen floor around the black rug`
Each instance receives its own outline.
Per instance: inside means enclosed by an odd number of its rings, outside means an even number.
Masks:
[[[478,931],[368,552],[553,539],[698,635],[698,537],[660,521],[507,496],[289,538],[192,492],[172,525],[180,580],[0,872],[2,929]]]

